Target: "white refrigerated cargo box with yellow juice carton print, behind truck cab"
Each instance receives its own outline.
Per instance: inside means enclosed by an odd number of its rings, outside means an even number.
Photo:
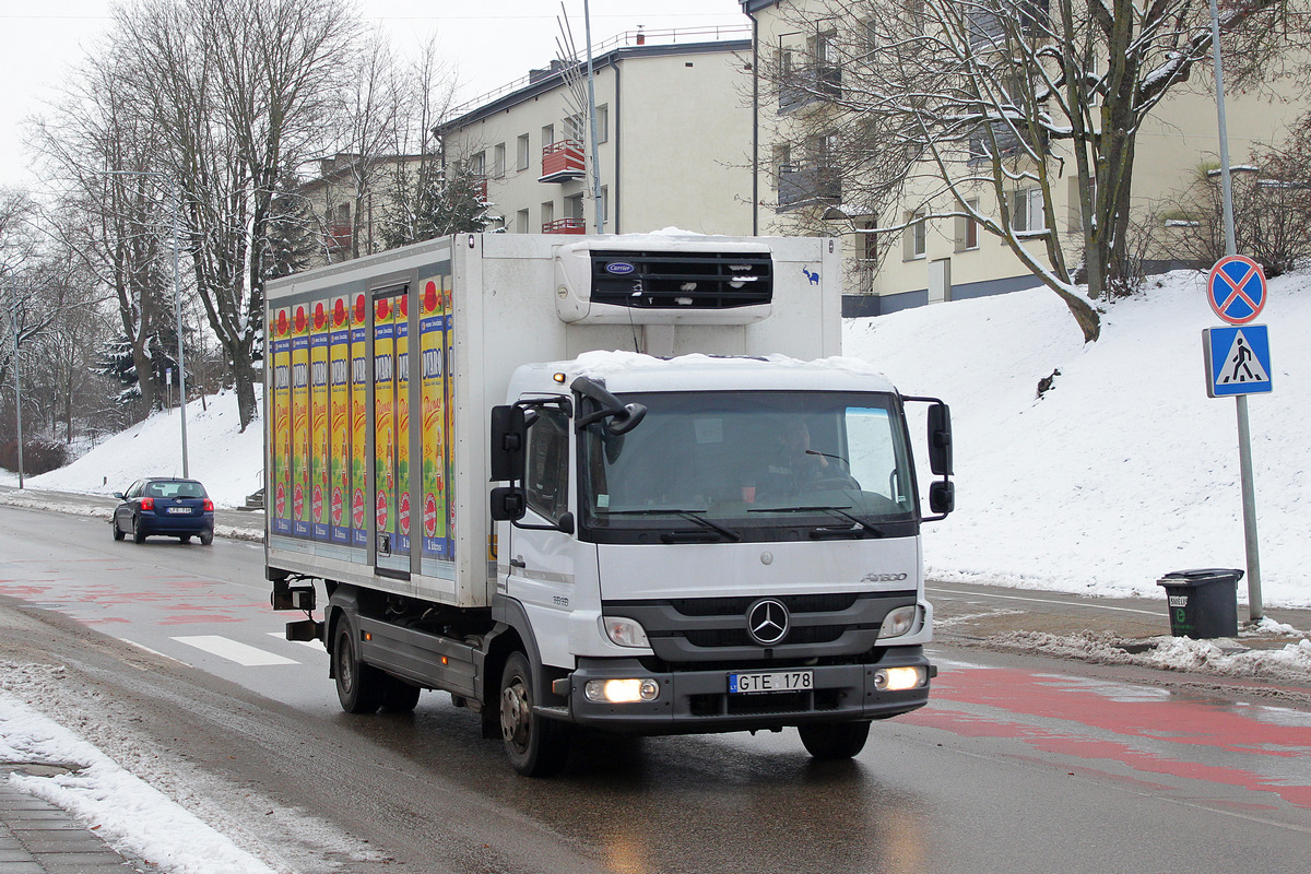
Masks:
[[[486,411],[506,402],[514,370],[635,343],[665,343],[653,351],[669,355],[836,355],[840,266],[827,244],[465,235],[270,282],[270,567],[488,607]],[[586,275],[593,252],[629,263],[652,250],[722,267],[763,256],[756,283],[770,279],[772,299],[756,309],[767,314],[728,324],[743,320],[738,308],[688,309],[637,326],[625,312],[589,316],[566,271]]]

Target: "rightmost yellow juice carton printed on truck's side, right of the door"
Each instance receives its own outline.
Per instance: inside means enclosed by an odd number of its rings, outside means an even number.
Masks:
[[[448,279],[447,279],[448,282]],[[446,540],[446,292],[442,276],[422,284],[420,320],[423,556],[447,558]]]

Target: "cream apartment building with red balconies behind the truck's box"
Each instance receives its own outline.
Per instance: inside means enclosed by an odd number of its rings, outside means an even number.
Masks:
[[[746,35],[635,31],[594,48],[607,233],[751,232]],[[456,109],[437,134],[448,161],[485,177],[492,228],[595,233],[586,110],[586,64],[557,60]]]

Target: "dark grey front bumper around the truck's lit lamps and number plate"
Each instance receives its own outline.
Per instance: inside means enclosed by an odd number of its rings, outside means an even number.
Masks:
[[[886,692],[874,688],[874,672],[889,667],[922,667],[926,677],[937,671],[923,647],[891,647],[877,663],[806,666],[814,672],[812,689],[729,693],[729,674],[750,671],[697,670],[652,672],[636,659],[582,659],[568,677],[569,719],[576,725],[621,734],[711,734],[779,729],[815,722],[886,719],[909,713],[928,702],[931,680],[915,689]],[[791,670],[791,668],[788,668]],[[590,680],[650,677],[659,684],[654,701],[607,704],[589,701],[583,689]],[[562,691],[565,680],[556,681]],[[562,709],[544,709],[543,715],[562,717]]]

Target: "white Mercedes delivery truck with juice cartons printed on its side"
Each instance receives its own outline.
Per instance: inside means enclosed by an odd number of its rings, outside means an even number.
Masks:
[[[840,270],[821,238],[464,235],[270,282],[287,637],[346,710],[448,692],[524,774],[578,727],[855,755],[927,701],[953,484],[945,405],[838,356]]]

